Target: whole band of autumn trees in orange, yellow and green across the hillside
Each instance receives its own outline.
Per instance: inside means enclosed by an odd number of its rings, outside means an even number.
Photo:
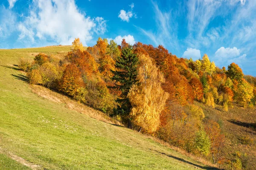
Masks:
[[[196,61],[178,58],[162,45],[125,40],[117,45],[99,38],[85,49],[76,39],[65,57],[38,54],[32,63],[21,59],[20,68],[31,84],[61,92],[189,153],[209,156],[215,164],[227,161],[225,136],[193,101],[224,111],[234,104],[256,104],[256,78],[244,76],[235,63],[226,70],[206,54]]]

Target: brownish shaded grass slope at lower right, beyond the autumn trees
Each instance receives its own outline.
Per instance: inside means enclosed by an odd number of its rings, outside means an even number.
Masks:
[[[256,170],[256,108],[243,108],[234,105],[229,111],[222,111],[202,103],[195,103],[203,108],[205,116],[221,125],[226,136],[226,158],[234,159],[236,152],[246,153],[248,170]]]

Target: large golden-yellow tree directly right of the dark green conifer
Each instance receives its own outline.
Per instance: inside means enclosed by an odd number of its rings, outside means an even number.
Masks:
[[[160,124],[160,113],[169,94],[161,88],[163,74],[145,55],[139,57],[138,85],[133,85],[128,98],[132,105],[132,122],[147,133],[154,133]]]

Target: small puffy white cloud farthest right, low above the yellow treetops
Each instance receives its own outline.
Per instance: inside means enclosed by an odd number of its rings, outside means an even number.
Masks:
[[[215,52],[215,57],[222,58],[222,59],[234,58],[239,55],[240,55],[240,49],[237,49],[236,47],[233,47],[233,48],[221,47]]]

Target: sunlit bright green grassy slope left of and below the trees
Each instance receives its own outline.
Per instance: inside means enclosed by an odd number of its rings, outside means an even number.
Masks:
[[[13,153],[40,166],[34,169],[45,170],[214,169],[150,137],[33,93],[17,68],[20,57],[32,60],[39,52],[63,55],[69,50],[70,46],[0,50],[0,168],[12,164],[5,155]]]

